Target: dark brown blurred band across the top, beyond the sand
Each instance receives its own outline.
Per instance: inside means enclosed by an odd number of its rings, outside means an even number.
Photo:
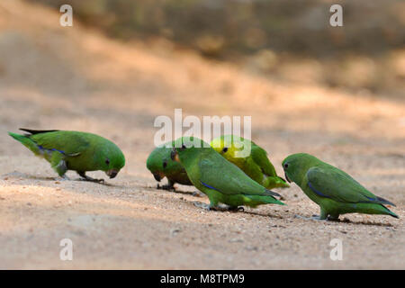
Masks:
[[[272,78],[403,97],[401,0],[40,0],[120,40],[193,49]],[[344,26],[329,7],[344,6]],[[168,42],[167,42],[168,41]]]

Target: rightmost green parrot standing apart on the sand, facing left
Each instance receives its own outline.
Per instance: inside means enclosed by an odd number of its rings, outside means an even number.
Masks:
[[[350,175],[309,154],[298,153],[283,161],[285,178],[299,185],[313,202],[320,205],[315,220],[338,220],[340,214],[385,214],[399,218],[383,204],[395,206],[365,189]]]

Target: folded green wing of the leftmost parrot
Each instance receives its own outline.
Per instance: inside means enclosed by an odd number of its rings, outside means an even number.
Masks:
[[[64,131],[45,131],[31,135],[30,137],[40,148],[46,148],[49,150],[56,150],[60,153],[75,157],[80,155],[86,148],[90,146],[88,140],[86,140],[79,133]]]

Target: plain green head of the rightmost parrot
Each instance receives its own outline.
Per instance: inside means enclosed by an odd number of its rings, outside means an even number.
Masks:
[[[306,153],[297,153],[286,157],[283,161],[285,179],[288,182],[301,184],[302,179],[311,166],[319,161],[318,158]]]

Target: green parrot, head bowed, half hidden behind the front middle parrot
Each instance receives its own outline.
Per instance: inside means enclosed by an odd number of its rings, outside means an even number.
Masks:
[[[155,177],[157,182],[160,182],[165,176],[167,184],[160,186],[157,184],[157,189],[175,190],[174,184],[193,185],[185,172],[184,167],[171,159],[170,154],[174,141],[169,141],[155,148],[149,155],[147,160],[148,170]]]

